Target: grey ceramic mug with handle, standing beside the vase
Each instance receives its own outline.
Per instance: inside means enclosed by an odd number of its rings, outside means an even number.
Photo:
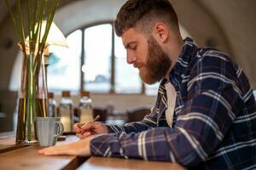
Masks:
[[[55,145],[64,127],[60,117],[36,117],[38,141],[41,146]]]

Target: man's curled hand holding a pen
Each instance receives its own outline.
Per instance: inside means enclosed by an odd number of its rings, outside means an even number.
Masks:
[[[79,139],[84,139],[93,134],[108,133],[108,127],[102,122],[76,123],[73,127]]]

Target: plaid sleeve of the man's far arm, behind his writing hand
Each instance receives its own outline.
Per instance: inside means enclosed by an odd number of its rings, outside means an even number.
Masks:
[[[153,127],[156,127],[157,125],[157,111],[156,109],[151,109],[150,114],[145,116],[143,118],[143,121],[140,122],[129,122],[125,123],[125,125],[110,125],[106,124],[108,127],[109,133],[119,133],[119,132],[125,132],[125,133],[139,133],[148,129],[151,129]]]

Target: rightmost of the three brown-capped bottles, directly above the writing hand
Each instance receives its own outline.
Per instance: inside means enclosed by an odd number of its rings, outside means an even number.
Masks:
[[[81,99],[79,101],[79,122],[90,122],[93,119],[92,102],[90,99],[90,92],[82,91]]]

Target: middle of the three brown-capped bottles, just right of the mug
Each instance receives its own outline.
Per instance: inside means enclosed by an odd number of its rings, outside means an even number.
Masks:
[[[64,133],[73,132],[73,101],[69,91],[62,92],[59,115],[64,126]]]

